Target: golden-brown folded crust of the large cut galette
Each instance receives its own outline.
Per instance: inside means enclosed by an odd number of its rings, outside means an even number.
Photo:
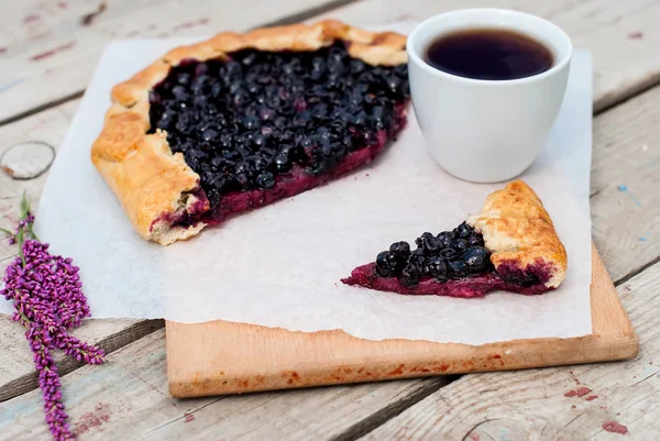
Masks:
[[[260,29],[245,34],[223,32],[211,40],[177,47],[131,79],[112,89],[112,106],[101,134],[91,147],[91,162],[117,195],[138,233],[168,245],[197,234],[205,224],[173,225],[173,220],[209,209],[200,203],[199,176],[180,153],[173,154],[166,133],[150,130],[150,90],[184,59],[222,59],[230,52],[316,51],[336,40],[348,42],[348,52],[370,65],[395,66],[407,62],[406,37],[394,32],[374,33],[334,20]]]

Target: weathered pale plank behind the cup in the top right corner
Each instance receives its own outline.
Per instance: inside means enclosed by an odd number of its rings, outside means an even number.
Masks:
[[[653,0],[365,0],[331,11],[361,25],[420,21],[461,8],[508,8],[530,12],[562,26],[575,47],[594,55],[596,110],[660,81],[656,32],[660,2]]]

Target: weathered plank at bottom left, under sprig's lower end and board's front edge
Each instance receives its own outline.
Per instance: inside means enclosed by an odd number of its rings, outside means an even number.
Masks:
[[[108,362],[63,381],[72,426],[85,440],[332,439],[365,418],[392,416],[397,406],[444,384],[433,378],[178,400],[167,393],[164,330],[117,351]],[[0,433],[16,441],[46,439],[40,399],[33,390],[3,403]]]

